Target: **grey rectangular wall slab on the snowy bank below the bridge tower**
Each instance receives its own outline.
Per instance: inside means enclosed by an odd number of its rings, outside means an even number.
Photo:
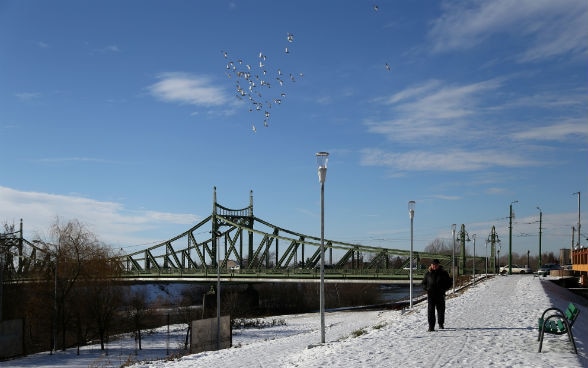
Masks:
[[[190,342],[190,353],[196,354],[203,351],[217,349],[217,318],[201,319],[192,321],[192,339]],[[231,331],[231,316],[220,318],[220,346],[219,349],[227,349],[233,345]]]

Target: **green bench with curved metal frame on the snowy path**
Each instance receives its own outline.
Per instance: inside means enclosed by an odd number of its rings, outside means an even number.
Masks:
[[[574,347],[574,353],[578,354],[574,335],[572,334],[572,326],[578,318],[578,314],[580,314],[580,310],[573,303],[568,304],[565,312],[558,308],[547,308],[539,318],[539,337],[537,338],[539,352],[543,347],[543,337],[548,333],[552,335],[567,334]]]

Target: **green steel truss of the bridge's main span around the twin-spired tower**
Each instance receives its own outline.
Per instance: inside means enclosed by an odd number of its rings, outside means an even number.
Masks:
[[[204,234],[204,236],[202,236]],[[325,273],[407,276],[408,250],[366,246],[325,239]],[[249,206],[230,209],[216,200],[210,216],[178,236],[119,258],[129,276],[230,273],[312,274],[320,265],[321,239],[273,225],[253,215]],[[414,252],[420,259],[446,258]],[[217,263],[218,262],[218,263]],[[218,270],[217,270],[218,269]],[[423,269],[420,270],[423,273]],[[419,273],[419,272],[417,272]]]

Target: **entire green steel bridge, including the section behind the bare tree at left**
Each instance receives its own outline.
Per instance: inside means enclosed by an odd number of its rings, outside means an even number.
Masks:
[[[50,255],[36,242],[3,234],[3,274],[26,278],[49,264]],[[0,239],[1,240],[1,239]],[[408,282],[410,251],[324,239],[325,282]],[[465,253],[456,264],[465,265]],[[422,278],[433,258],[451,268],[451,255],[413,252],[413,278]],[[231,282],[314,282],[320,278],[321,238],[273,225],[253,214],[249,205],[231,209],[217,202],[216,188],[210,216],[162,243],[116,256],[129,280]],[[471,260],[471,259],[470,259]],[[485,258],[475,260],[483,270]],[[464,267],[465,268],[465,267]],[[8,281],[5,278],[5,281]]]

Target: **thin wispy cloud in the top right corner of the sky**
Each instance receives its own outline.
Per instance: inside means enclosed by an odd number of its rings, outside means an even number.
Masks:
[[[501,35],[520,42],[519,62],[588,52],[585,0],[445,1],[429,38],[434,52],[469,49]]]

